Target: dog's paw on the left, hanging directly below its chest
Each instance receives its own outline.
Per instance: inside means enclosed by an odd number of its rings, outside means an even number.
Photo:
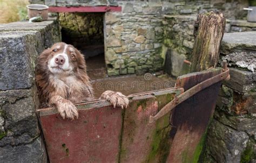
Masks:
[[[77,119],[78,118],[78,111],[76,106],[69,100],[62,100],[57,105],[58,112],[63,119]]]

